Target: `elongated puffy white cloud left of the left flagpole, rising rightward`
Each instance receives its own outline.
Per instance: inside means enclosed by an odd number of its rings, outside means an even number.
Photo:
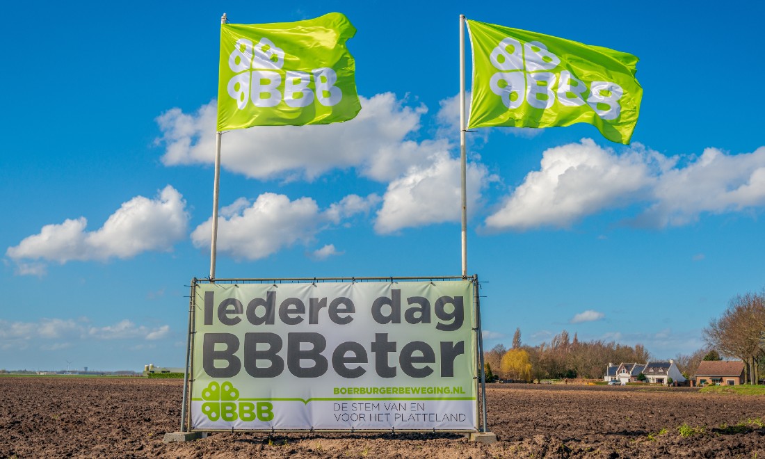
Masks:
[[[96,231],[86,231],[87,220],[67,219],[45,225],[39,234],[24,238],[5,254],[18,264],[20,275],[41,275],[45,260],[61,264],[73,260],[126,259],[149,250],[167,251],[186,235],[188,215],[180,193],[168,185],[153,200],[137,196],[122,204]]]

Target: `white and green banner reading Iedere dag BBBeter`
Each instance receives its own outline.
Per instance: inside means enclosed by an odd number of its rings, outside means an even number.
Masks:
[[[477,430],[470,279],[193,295],[191,430]]]

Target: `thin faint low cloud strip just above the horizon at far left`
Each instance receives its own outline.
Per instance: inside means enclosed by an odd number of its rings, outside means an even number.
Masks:
[[[43,317],[37,322],[5,321],[0,319],[0,348],[24,349],[36,340],[44,341],[42,350],[70,347],[77,340],[160,340],[170,334],[169,325],[146,327],[127,319],[117,324],[93,327],[86,318],[58,319]],[[57,340],[57,343],[50,343]]]

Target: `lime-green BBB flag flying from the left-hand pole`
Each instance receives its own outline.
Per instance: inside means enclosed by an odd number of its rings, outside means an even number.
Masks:
[[[340,13],[307,21],[221,24],[218,131],[329,124],[361,109]]]

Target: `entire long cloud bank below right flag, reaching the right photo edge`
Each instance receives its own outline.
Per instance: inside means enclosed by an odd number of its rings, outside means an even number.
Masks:
[[[667,157],[636,144],[617,155],[591,139],[550,148],[539,171],[526,175],[485,223],[488,229],[565,228],[585,216],[637,203],[628,223],[682,225],[701,213],[765,206],[765,147],[726,155],[708,148],[700,158]]]

